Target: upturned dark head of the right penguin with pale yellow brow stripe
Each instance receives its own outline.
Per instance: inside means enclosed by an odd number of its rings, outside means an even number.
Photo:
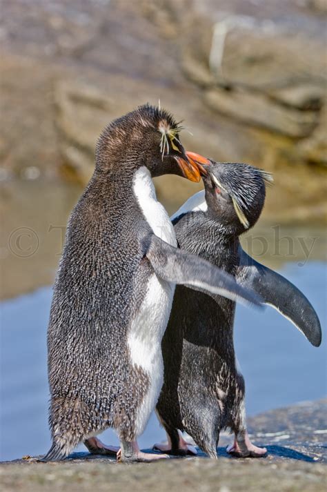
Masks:
[[[266,197],[266,183],[273,181],[264,170],[229,162],[210,161],[203,175],[208,211],[239,234],[259,219]]]

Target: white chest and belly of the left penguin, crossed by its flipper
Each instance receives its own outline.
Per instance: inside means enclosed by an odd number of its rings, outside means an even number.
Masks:
[[[142,167],[135,173],[133,190],[146,222],[153,233],[172,246],[177,246],[175,230],[168,213],[155,194],[147,168]],[[136,419],[136,435],[140,435],[155,408],[164,380],[164,363],[161,354],[161,340],[164,336],[175,284],[159,279],[155,273],[148,280],[146,295],[139,311],[132,320],[128,333],[130,360],[145,371],[150,387],[139,406]]]

